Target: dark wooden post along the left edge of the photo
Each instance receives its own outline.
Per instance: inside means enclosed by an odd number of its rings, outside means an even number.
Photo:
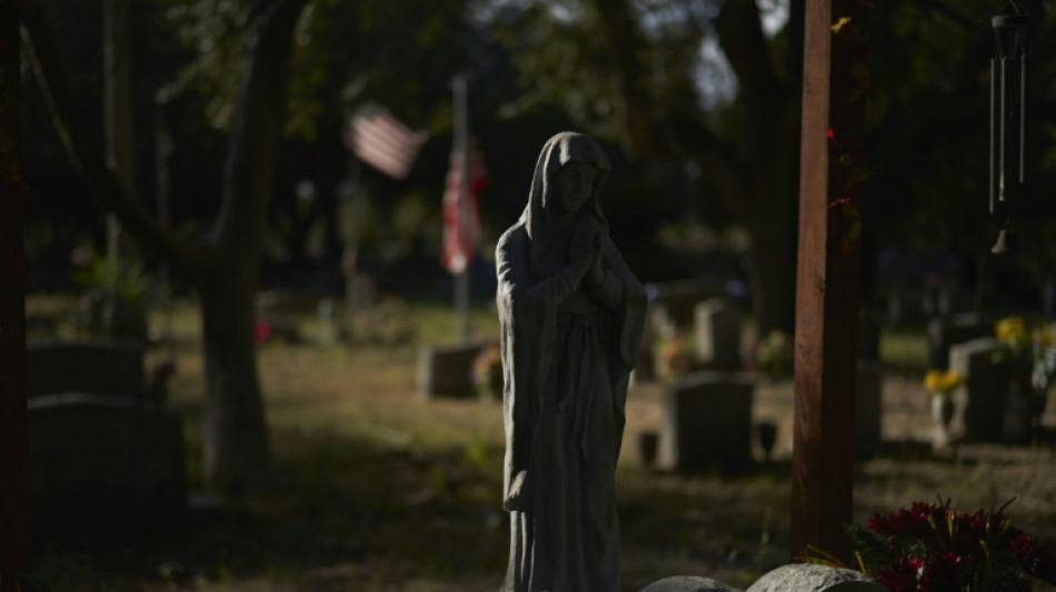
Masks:
[[[0,592],[29,573],[18,0],[0,0]]]

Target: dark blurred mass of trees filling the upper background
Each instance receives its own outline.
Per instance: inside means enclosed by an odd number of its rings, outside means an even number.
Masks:
[[[100,210],[82,194],[124,210],[126,224],[139,227],[130,232],[150,270],[159,257],[196,259],[218,244],[223,220],[233,220],[232,183],[251,179],[260,184],[253,190],[260,213],[236,219],[260,224],[259,238],[238,255],[240,269],[260,270],[252,288],[339,292],[337,195],[358,175],[373,211],[365,269],[382,290],[448,299],[450,279],[437,258],[451,146],[449,82],[467,71],[470,127],[491,180],[480,201],[477,277],[486,277],[491,244],[524,208],[539,147],[558,130],[580,129],[612,154],[606,212],[644,280],[747,279],[760,334],[794,329],[804,0],[434,0],[415,10],[383,0],[313,0],[288,23],[288,83],[252,90],[245,104],[243,40],[271,3],[130,4],[138,158],[135,191],[123,197],[111,194],[117,190],[104,168],[88,165],[102,154],[101,0],[24,9],[38,53],[53,48],[62,66],[54,80],[76,89],[67,107],[80,124],[67,128],[83,140],[79,165],[91,180],[86,184],[68,163],[51,114],[37,100],[43,94],[27,79],[30,290],[70,289],[69,253],[78,239],[102,243]],[[998,221],[986,212],[989,19],[1000,2],[874,7],[866,304],[877,304],[897,281],[919,284],[930,273],[920,257],[889,268],[891,252],[942,251],[957,260],[957,288],[978,294],[983,305],[1040,307],[1056,238],[1046,197],[1056,165],[1056,77],[1050,2],[1037,6],[1033,193],[1017,214],[1024,245],[1000,259],[988,255]],[[38,28],[44,23],[47,38]],[[240,110],[266,97],[277,101],[269,109],[281,128],[273,163],[232,177],[228,159]],[[430,133],[404,181],[353,170],[342,129],[368,103]],[[156,141],[159,127],[170,151]],[[145,221],[160,213],[159,160],[170,180],[165,228]],[[173,254],[173,245],[186,253]],[[196,265],[177,270],[205,302],[202,271],[188,269]],[[487,289],[482,281],[478,294]],[[251,309],[252,292],[243,292],[238,305]],[[210,388],[255,392],[250,374]]]

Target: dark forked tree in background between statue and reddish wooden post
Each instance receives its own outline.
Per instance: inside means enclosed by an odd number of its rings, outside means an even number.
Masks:
[[[790,31],[785,78],[770,60],[755,2],[721,3],[715,28],[740,87],[745,107],[743,153],[716,137],[701,113],[656,113],[641,87],[642,40],[627,0],[595,0],[602,37],[619,80],[620,114],[630,142],[642,153],[675,152],[700,165],[705,178],[745,225],[751,241],[749,282],[760,334],[777,329],[791,334],[796,308],[796,237],[799,178],[799,76],[801,32]],[[788,27],[801,27],[803,0],[793,0]],[[637,122],[632,124],[631,120]]]

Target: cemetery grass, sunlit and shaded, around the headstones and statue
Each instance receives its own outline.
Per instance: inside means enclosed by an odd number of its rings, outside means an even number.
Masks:
[[[33,299],[31,313],[64,302]],[[300,339],[269,339],[259,367],[271,425],[276,481],[259,496],[210,503],[163,526],[110,533],[87,546],[43,544],[34,575],[53,590],[492,591],[505,572],[500,509],[504,435],[494,400],[424,400],[422,344],[451,341],[444,305],[393,304],[363,320],[373,339],[329,343],[315,311],[297,317]],[[185,418],[190,489],[200,491],[202,360],[197,311],[176,305],[177,372],[169,405]],[[159,313],[153,327],[162,325]],[[482,338],[497,335],[487,307],[474,311]],[[412,332],[405,329],[414,328]],[[856,464],[855,521],[914,501],[952,498],[975,511],[1010,498],[1025,530],[1056,540],[1056,445],[965,444],[933,454],[923,388],[923,332],[884,331],[883,453]],[[152,348],[148,363],[165,359]],[[638,438],[660,424],[664,384],[638,382],[617,474],[624,589],[674,574],[747,588],[788,562],[791,381],[760,379],[753,421],[778,425],[771,462],[677,475],[649,468]],[[1043,425],[1056,430],[1049,404]],[[756,444],[757,446],[757,444]]]

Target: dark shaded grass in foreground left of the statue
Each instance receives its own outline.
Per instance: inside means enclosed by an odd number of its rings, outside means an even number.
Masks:
[[[34,573],[54,590],[260,579],[369,590],[409,575],[500,578],[508,543],[500,450],[417,452],[336,434],[272,435],[277,450],[291,452],[276,460],[271,493],[192,503],[182,520],[128,526],[92,546],[43,546]]]

